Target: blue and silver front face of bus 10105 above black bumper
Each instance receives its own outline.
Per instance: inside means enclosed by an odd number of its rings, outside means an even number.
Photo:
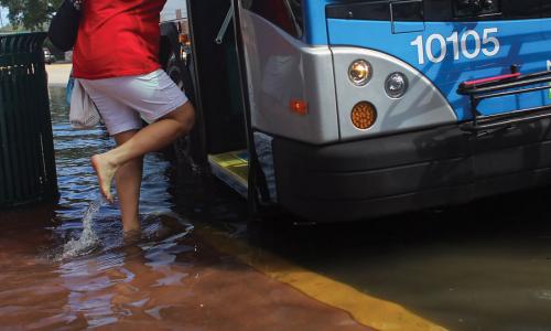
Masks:
[[[551,66],[551,2],[320,1],[320,6],[325,7],[326,41],[334,53],[343,139],[540,111],[551,104],[549,89],[543,89],[549,82],[544,72]],[[320,41],[323,35],[312,42]],[[352,87],[348,71],[358,58],[369,62],[374,76],[365,86]],[[534,73],[539,74],[526,76]],[[519,77],[540,88],[507,94],[527,85],[504,85]],[[473,93],[472,87],[488,84],[494,88],[487,92],[503,95],[473,104],[471,97],[480,90]],[[407,92],[389,94],[388,88],[397,86]],[[366,98],[381,120],[359,130],[346,109]]]

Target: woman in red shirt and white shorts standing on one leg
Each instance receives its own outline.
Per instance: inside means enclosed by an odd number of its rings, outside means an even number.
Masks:
[[[111,203],[116,180],[125,233],[140,231],[143,156],[170,145],[194,124],[193,106],[159,65],[159,23],[165,1],[82,3],[74,76],[117,142],[117,148],[91,157],[91,164]],[[152,124],[142,128],[140,117]]]

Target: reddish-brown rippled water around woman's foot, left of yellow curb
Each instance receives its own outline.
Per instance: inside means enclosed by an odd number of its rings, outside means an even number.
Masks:
[[[201,188],[190,186],[176,214],[174,171],[162,154],[145,159],[143,235],[125,242],[119,212],[101,204],[88,162],[111,142],[101,128],[72,130],[63,94],[51,89],[58,204],[0,213],[0,329],[366,329],[197,237],[184,214],[238,213],[223,202],[192,203]]]

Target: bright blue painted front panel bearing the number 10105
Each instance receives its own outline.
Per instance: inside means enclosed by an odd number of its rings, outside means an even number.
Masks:
[[[471,118],[469,102],[457,95],[462,82],[548,70],[551,19],[480,22],[425,22],[422,32],[392,33],[389,21],[328,19],[329,43],[377,50],[415,67],[441,90],[460,120]],[[377,71],[375,67],[374,71]],[[484,115],[550,104],[549,92],[483,102]]]

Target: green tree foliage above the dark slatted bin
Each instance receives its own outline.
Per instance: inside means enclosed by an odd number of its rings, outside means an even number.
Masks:
[[[31,31],[44,30],[62,2],[63,0],[0,0],[0,4],[9,10],[11,24]]]

